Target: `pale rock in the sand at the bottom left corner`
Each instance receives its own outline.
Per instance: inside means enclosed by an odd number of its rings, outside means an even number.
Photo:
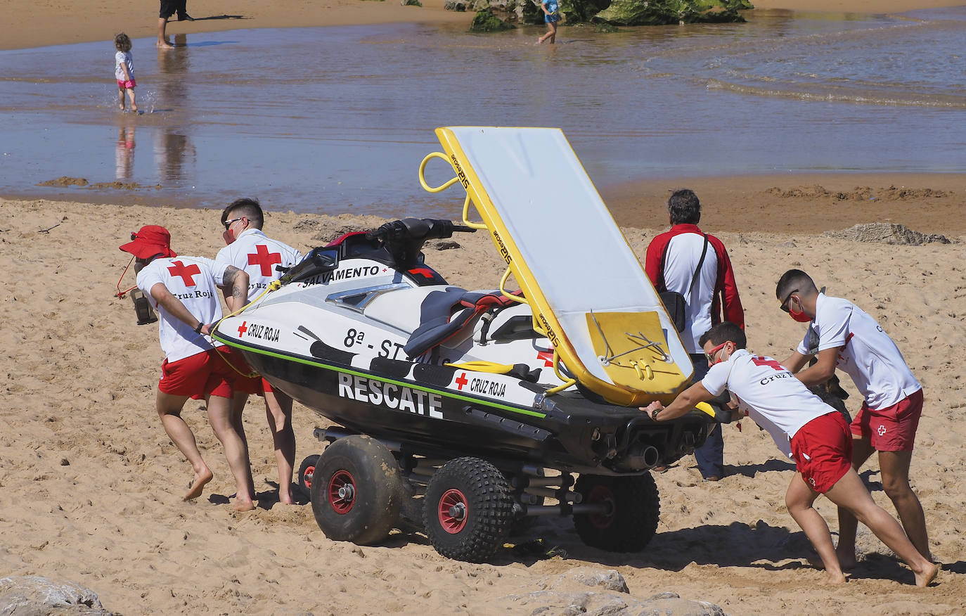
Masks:
[[[54,582],[40,575],[0,578],[0,614],[112,616],[93,590],[73,582]]]

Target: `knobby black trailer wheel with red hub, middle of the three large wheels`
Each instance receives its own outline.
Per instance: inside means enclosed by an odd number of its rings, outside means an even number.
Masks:
[[[485,460],[446,462],[430,479],[424,500],[426,534],[447,558],[483,562],[510,534],[510,486],[497,467]]]

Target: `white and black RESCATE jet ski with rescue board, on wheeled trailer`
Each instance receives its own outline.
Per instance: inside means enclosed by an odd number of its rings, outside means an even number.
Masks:
[[[336,238],[213,337],[335,424],[299,469],[331,539],[371,544],[414,523],[441,554],[478,562],[520,522],[573,515],[585,544],[640,550],[660,510],[648,470],[715,422],[711,407],[660,424],[639,411],[689,384],[677,323],[561,131],[437,133],[446,152],[420,182],[462,184],[463,224],[405,218]],[[434,158],[456,173],[438,187],[424,178]],[[508,266],[495,290],[448,284],[422,253],[477,230]]]

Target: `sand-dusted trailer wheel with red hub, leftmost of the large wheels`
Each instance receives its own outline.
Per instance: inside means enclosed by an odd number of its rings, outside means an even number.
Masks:
[[[310,494],[312,513],[326,537],[364,546],[392,530],[405,490],[392,453],[378,440],[354,434],[319,456]]]

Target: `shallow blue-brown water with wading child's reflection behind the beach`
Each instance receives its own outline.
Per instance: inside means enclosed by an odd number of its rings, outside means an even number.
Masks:
[[[966,171],[966,7],[749,23],[246,30],[0,52],[0,194],[455,215],[419,161],[448,125],[560,126],[599,188],[774,172]],[[452,174],[436,161],[429,179]],[[120,187],[41,186],[60,177]],[[133,185],[132,185],[133,184]]]

